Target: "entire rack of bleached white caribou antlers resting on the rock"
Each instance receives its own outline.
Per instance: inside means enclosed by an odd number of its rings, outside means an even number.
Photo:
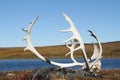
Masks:
[[[96,45],[94,45],[94,53],[91,57],[91,59],[88,59],[87,58],[87,55],[86,55],[86,52],[85,52],[85,47],[84,47],[84,42],[80,36],[80,34],[78,33],[77,29],[75,28],[72,20],[66,15],[63,13],[63,16],[65,17],[65,19],[68,21],[68,23],[70,24],[70,28],[67,29],[67,30],[61,30],[62,32],[72,32],[73,33],[73,36],[69,39],[67,39],[66,41],[64,41],[64,43],[66,43],[66,46],[70,49],[70,52],[66,54],[66,56],[68,54],[71,54],[71,59],[73,60],[73,63],[58,63],[58,62],[54,62],[52,60],[49,60],[45,57],[43,57],[41,54],[39,54],[37,52],[37,50],[32,46],[32,43],[31,43],[31,38],[30,38],[30,32],[31,32],[31,29],[34,25],[34,23],[36,22],[36,20],[38,19],[38,17],[36,17],[29,25],[29,27],[27,29],[23,29],[23,31],[26,32],[26,37],[24,38],[24,40],[26,41],[27,43],[27,47],[24,49],[25,50],[30,50],[31,52],[33,52],[39,59],[47,62],[47,63],[50,63],[52,65],[56,65],[56,66],[59,66],[61,68],[63,67],[72,67],[72,66],[83,66],[84,63],[80,63],[80,62],[77,62],[75,59],[74,59],[74,56],[73,56],[73,53],[76,51],[76,50],[82,50],[83,52],[83,57],[84,57],[84,60],[85,60],[85,66],[86,66],[86,70],[90,70],[95,64],[96,62],[101,58],[101,55],[102,55],[102,47],[101,47],[101,44],[99,42],[99,40],[97,39],[96,35],[89,30],[89,32],[91,33],[91,35],[97,40],[97,42],[99,43],[99,48],[100,50],[97,49]],[[67,43],[68,42],[71,42],[71,46],[69,46]],[[78,47],[76,47],[77,44],[80,44]],[[92,59],[95,59],[93,62],[90,62]]]

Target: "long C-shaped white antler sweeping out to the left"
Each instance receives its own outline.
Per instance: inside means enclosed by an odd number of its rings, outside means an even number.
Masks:
[[[39,54],[37,52],[37,50],[32,46],[32,43],[31,43],[31,38],[30,38],[30,32],[31,32],[31,29],[34,25],[34,23],[36,22],[36,20],[38,19],[38,17],[36,17],[29,25],[29,27],[27,29],[23,29],[23,31],[26,32],[26,37],[25,37],[25,41],[27,43],[27,47],[24,49],[24,50],[30,50],[31,52],[33,52],[39,59],[47,62],[47,63],[50,63],[52,65],[56,65],[56,66],[59,66],[61,68],[63,67],[72,67],[72,66],[82,66],[83,63],[58,63],[58,62],[54,62],[54,61],[51,61],[45,57],[43,57],[41,54]]]

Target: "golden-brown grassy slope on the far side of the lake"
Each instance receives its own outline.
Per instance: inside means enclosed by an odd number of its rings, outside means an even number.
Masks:
[[[103,58],[120,58],[120,41],[102,43]],[[93,53],[93,45],[85,44],[88,57]],[[23,47],[20,48],[0,48],[0,59],[31,59],[37,58],[30,51],[23,51]],[[66,58],[64,55],[69,52],[66,46],[49,46],[49,47],[36,47],[38,52],[47,58]],[[76,58],[82,58],[81,51],[75,52]],[[69,56],[67,57],[69,58]]]

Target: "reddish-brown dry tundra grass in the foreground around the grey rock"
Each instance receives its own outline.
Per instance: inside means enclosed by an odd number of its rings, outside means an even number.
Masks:
[[[31,70],[0,72],[0,80],[30,80],[29,79],[30,74]],[[76,76],[74,80],[120,80],[120,70],[103,70],[99,74],[101,74],[103,78]],[[68,80],[68,79],[56,78],[51,80]]]

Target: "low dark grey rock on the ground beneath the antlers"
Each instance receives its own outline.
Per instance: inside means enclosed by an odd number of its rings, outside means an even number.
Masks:
[[[85,70],[74,70],[69,68],[41,68],[31,73],[30,80],[75,80],[80,76],[99,77],[98,73]]]

